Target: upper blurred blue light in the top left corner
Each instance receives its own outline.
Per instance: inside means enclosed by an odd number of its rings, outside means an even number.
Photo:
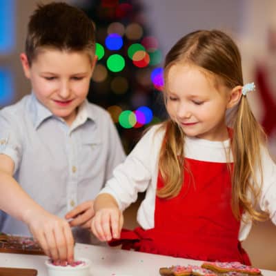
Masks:
[[[0,0],[0,55],[6,55],[15,46],[15,3]]]

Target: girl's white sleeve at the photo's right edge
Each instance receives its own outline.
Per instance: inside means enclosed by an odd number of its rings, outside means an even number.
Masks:
[[[262,168],[263,186],[259,205],[276,224],[276,164],[265,149],[262,150]]]

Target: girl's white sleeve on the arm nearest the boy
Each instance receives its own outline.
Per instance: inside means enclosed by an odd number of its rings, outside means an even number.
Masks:
[[[112,179],[100,192],[112,195],[120,210],[135,202],[138,193],[144,192],[150,184],[156,159],[155,130],[154,127],[146,132],[124,163],[115,168]]]

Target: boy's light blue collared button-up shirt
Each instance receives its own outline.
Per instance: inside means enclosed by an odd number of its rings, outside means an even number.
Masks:
[[[94,199],[125,159],[106,110],[86,100],[68,126],[33,94],[0,111],[0,153],[12,158],[14,178],[30,197],[59,217]],[[1,215],[1,231],[30,235],[21,221]]]

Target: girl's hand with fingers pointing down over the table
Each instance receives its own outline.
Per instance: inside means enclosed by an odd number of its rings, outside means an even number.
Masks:
[[[119,208],[102,208],[92,218],[92,233],[101,241],[119,239],[124,217]]]

